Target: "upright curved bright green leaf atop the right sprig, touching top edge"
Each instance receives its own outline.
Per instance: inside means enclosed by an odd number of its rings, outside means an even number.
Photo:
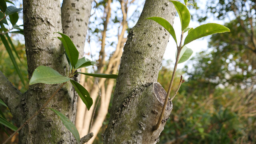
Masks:
[[[173,3],[173,5],[175,6],[175,8],[179,14],[179,19],[181,22],[181,30],[183,31],[183,30],[185,30],[185,28],[187,28],[187,26],[189,25],[189,22],[190,22],[189,10],[181,2],[177,2],[177,1],[173,1],[173,0],[170,0],[170,2]]]

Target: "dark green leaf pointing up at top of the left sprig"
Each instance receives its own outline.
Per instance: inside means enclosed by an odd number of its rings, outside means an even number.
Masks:
[[[58,39],[61,40],[61,42],[65,48],[65,51],[69,57],[71,65],[73,67],[75,67],[75,65],[77,64],[78,56],[79,56],[79,52],[78,52],[77,48],[75,47],[74,43],[69,38],[69,36],[62,34],[60,32],[56,32],[56,33],[58,33],[62,36],[62,38],[58,37]]]

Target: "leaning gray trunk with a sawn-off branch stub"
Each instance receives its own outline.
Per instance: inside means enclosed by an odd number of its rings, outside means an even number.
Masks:
[[[111,117],[104,134],[105,144],[154,144],[159,140],[172,106],[167,105],[160,128],[153,131],[166,96],[161,85],[154,82],[157,82],[169,33],[145,18],[159,16],[173,24],[175,13],[171,2],[146,0],[124,47]]]

